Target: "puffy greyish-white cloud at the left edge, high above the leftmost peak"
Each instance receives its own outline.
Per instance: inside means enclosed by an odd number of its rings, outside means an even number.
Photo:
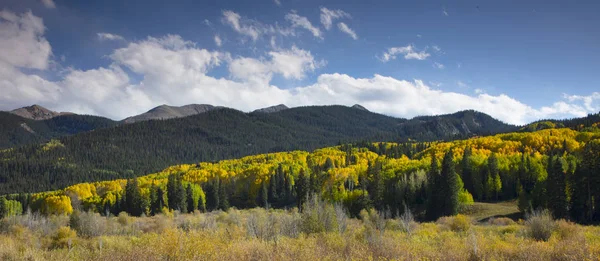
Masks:
[[[0,63],[45,70],[52,49],[44,38],[44,22],[31,11],[15,14],[0,11]]]

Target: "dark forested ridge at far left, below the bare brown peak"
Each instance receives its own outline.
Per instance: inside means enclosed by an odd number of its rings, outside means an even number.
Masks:
[[[73,135],[117,123],[89,115],[61,115],[46,120],[32,120],[0,111],[0,149],[46,142],[53,138]]]

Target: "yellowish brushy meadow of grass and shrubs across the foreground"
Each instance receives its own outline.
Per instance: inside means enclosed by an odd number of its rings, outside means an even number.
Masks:
[[[283,210],[2,220],[2,260],[599,260],[600,227],[469,216],[416,223]],[[540,228],[541,225],[541,228]],[[549,230],[544,230],[544,227]],[[542,229],[547,241],[533,239]]]

